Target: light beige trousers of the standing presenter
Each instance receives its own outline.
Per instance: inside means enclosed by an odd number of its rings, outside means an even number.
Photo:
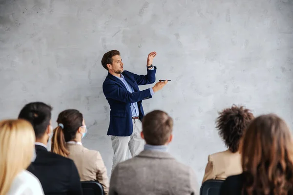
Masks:
[[[114,151],[112,172],[119,162],[128,159],[127,152],[136,156],[144,150],[145,140],[141,137],[142,122],[140,119],[132,119],[133,131],[131,136],[111,136]]]

